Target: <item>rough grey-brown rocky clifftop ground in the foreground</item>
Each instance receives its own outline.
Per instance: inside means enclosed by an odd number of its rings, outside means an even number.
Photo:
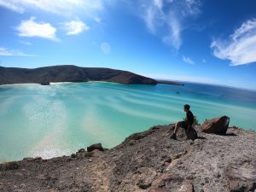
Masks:
[[[172,140],[172,125],[158,125],[108,150],[21,160],[0,171],[0,191],[254,192],[255,132],[195,130],[194,142],[183,133]]]

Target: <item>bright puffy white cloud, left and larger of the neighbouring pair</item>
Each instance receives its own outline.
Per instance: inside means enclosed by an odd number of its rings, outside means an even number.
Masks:
[[[58,40],[55,37],[56,29],[49,23],[36,22],[35,17],[31,17],[29,20],[22,20],[20,26],[17,27],[20,37],[38,37],[48,38],[50,40]]]

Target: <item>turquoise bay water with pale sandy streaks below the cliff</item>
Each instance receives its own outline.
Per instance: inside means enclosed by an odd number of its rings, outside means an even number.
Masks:
[[[189,103],[200,123],[227,115],[256,129],[256,92],[205,84],[69,83],[0,86],[0,161],[72,154],[92,143],[111,148],[152,125],[183,119]]]

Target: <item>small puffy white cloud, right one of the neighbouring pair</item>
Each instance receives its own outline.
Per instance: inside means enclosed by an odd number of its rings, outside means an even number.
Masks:
[[[90,29],[90,27],[81,20],[71,20],[63,23],[63,25],[67,31],[67,35],[78,35],[79,33]]]

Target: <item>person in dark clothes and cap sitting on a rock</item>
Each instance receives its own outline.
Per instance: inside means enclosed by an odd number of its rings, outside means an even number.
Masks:
[[[190,106],[188,104],[184,105],[184,112],[186,112],[186,118],[183,121],[178,121],[177,124],[175,125],[174,132],[171,136],[172,139],[177,139],[176,134],[177,130],[179,127],[182,127],[185,129],[186,134],[188,136],[189,134],[189,128],[193,125],[194,123],[194,115],[193,113],[189,110]]]

